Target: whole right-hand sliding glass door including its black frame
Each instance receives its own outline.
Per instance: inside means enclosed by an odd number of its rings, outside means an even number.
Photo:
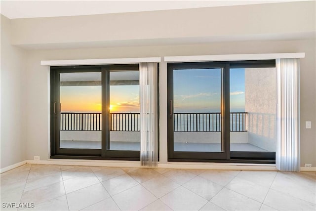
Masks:
[[[168,161],[274,163],[275,60],[168,64]]]

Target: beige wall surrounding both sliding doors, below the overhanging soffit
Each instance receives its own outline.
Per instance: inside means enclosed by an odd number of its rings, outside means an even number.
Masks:
[[[311,163],[316,166],[316,64],[315,40],[303,41],[252,41],[220,42],[193,45],[160,45],[109,48],[81,48],[59,50],[32,50],[27,64],[27,159],[40,155],[47,159],[49,147],[49,68],[40,66],[40,60],[151,57],[164,55],[203,55],[235,53],[279,53],[305,52],[301,59],[301,166]],[[160,161],[167,161],[167,70],[166,63],[160,63]],[[305,121],[312,121],[312,129],[305,128]]]

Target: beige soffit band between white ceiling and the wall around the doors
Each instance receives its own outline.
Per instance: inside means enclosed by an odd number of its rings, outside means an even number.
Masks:
[[[315,28],[315,1],[307,1],[14,19],[12,44],[58,48],[305,39]]]

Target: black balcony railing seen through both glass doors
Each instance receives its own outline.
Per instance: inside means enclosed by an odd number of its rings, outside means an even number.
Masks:
[[[232,112],[231,131],[246,130],[247,112]],[[173,128],[175,132],[220,132],[221,113],[174,113]],[[140,131],[139,113],[111,113],[111,131]],[[102,130],[101,113],[60,114],[60,130]]]

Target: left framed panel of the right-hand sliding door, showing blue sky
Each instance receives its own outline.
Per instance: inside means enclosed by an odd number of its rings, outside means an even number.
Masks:
[[[168,65],[169,158],[227,159],[225,66]]]

